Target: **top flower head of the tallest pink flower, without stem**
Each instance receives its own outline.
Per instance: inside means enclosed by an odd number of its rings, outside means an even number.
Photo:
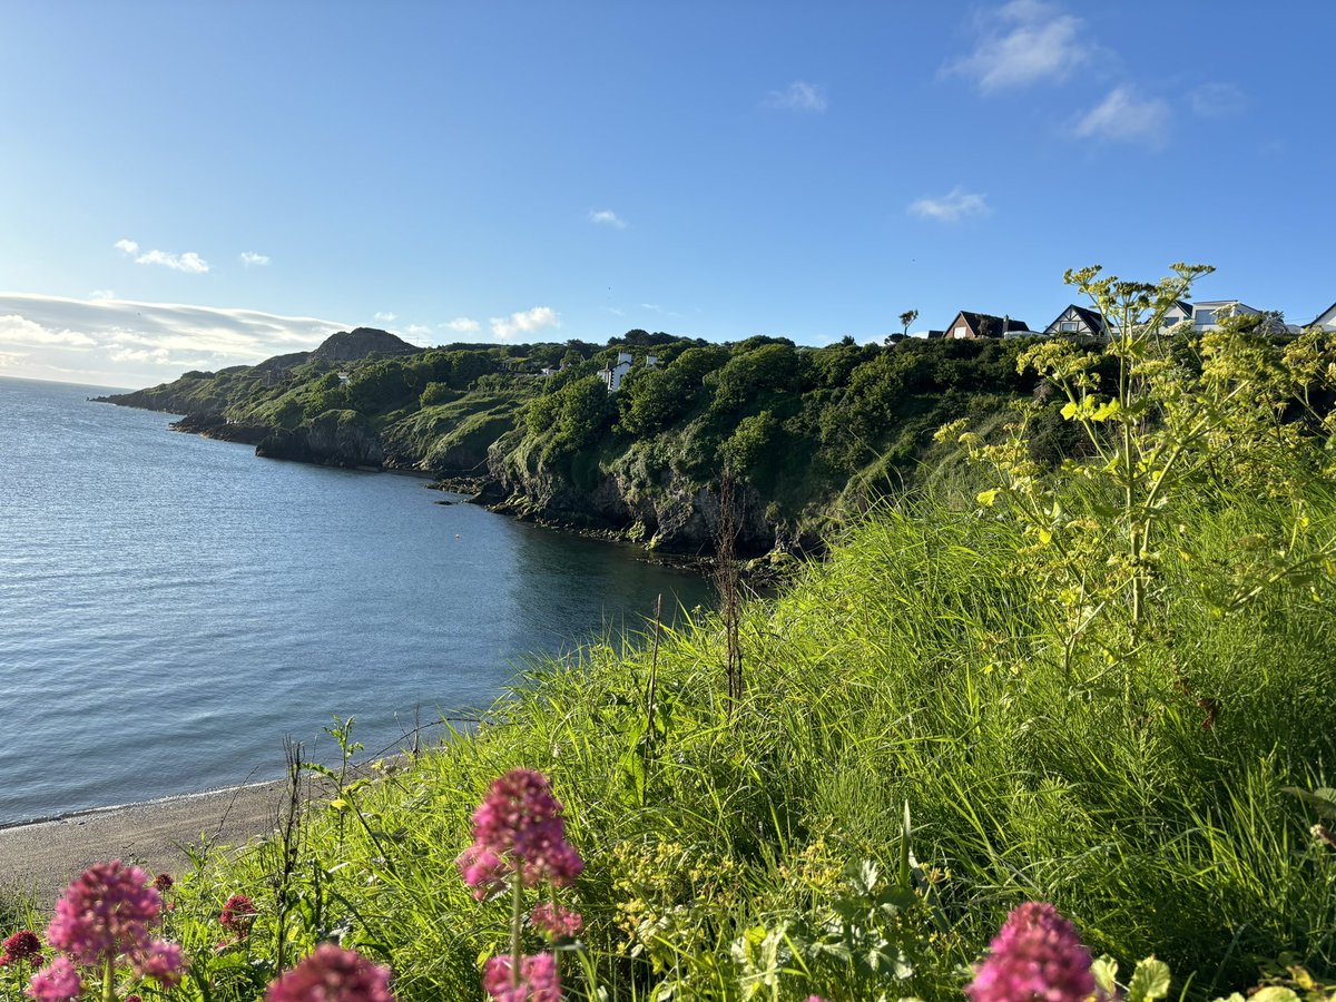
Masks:
[[[561,803],[548,778],[532,770],[510,770],[492,783],[473,812],[473,844],[456,863],[478,900],[512,872],[525,887],[542,880],[566,887],[584,868],[580,854],[566,842]]]

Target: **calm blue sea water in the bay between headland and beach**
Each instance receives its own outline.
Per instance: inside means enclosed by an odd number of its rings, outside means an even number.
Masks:
[[[708,601],[695,576],[425,482],[259,460],[0,379],[0,824],[282,774],[485,707],[529,655]]]

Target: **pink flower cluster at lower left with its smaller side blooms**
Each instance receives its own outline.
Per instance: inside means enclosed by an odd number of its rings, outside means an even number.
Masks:
[[[76,965],[102,969],[122,959],[139,977],[175,986],[184,961],[176,943],[152,938],[160,914],[162,895],[139,867],[119,859],[90,867],[65,888],[47,927],[47,942],[65,957],[37,971],[28,994],[39,1002],[75,998],[83,990]]]

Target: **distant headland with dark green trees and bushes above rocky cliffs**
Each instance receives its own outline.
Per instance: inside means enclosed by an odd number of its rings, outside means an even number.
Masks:
[[[739,544],[764,552],[812,545],[834,517],[915,484],[938,426],[995,425],[1037,386],[1017,371],[1021,341],[810,349],[629,331],[604,347],[414,350],[354,334],[110,399],[265,456],[468,477],[508,510],[681,552],[709,548],[727,466],[747,502]],[[609,393],[597,373],[623,353],[633,362]],[[1055,411],[1045,420],[1061,432]],[[1037,448],[1051,458],[1054,445]]]

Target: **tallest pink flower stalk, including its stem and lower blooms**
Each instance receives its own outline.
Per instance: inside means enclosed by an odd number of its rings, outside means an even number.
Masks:
[[[510,895],[510,953],[486,962],[482,987],[500,1002],[560,1002],[556,955],[522,951],[525,890],[569,887],[584,868],[546,776],[517,768],[494,780],[473,812],[473,844],[456,862],[477,900]],[[553,941],[581,925],[556,902],[540,903],[530,921]]]

